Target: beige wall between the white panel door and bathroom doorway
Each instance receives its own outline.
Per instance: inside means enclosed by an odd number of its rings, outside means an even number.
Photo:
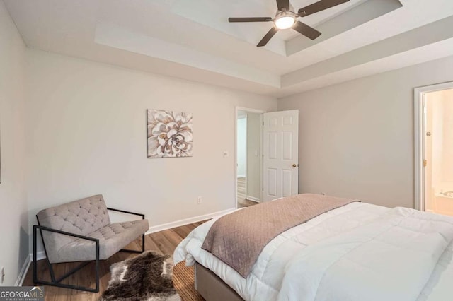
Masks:
[[[299,109],[299,191],[414,206],[413,88],[453,81],[453,57],[282,98]]]

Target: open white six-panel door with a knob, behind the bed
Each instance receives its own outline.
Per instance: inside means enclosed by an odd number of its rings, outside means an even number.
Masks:
[[[299,193],[299,110],[263,114],[263,199]]]

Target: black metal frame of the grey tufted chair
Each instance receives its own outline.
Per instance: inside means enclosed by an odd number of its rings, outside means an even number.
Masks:
[[[135,212],[124,211],[124,210],[114,209],[114,208],[107,208],[107,210],[117,211],[120,213],[132,214],[134,216],[142,216],[142,219],[144,220],[144,214],[142,214],[142,213],[135,213]],[[36,219],[38,220],[38,216],[36,216]],[[42,281],[42,280],[38,279],[38,261],[37,261],[37,255],[36,255],[36,251],[37,251],[36,236],[37,236],[38,229],[40,230],[42,246],[44,247],[44,252],[45,252],[45,259],[47,261],[47,266],[49,267],[50,279],[52,281]],[[80,264],[79,266],[77,266],[76,268],[65,273],[63,276],[60,276],[59,278],[55,278],[54,269],[52,268],[52,264],[50,263],[49,257],[47,256],[47,249],[45,247],[44,238],[42,237],[42,231],[49,231],[49,232],[55,232],[55,233],[59,233],[59,234],[63,234],[63,235],[69,235],[71,237],[77,237],[77,238],[81,238],[83,240],[91,240],[92,242],[96,243],[96,251],[95,251],[96,259],[94,260],[95,264],[96,264],[96,288],[88,288],[88,287],[79,286],[79,285],[70,285],[70,284],[61,283],[61,281],[63,281],[64,279],[66,279],[69,276],[71,276],[72,274],[76,273],[81,268],[84,268],[84,266],[90,264],[91,261],[85,261],[82,264]],[[144,252],[144,234],[142,235],[142,251],[130,250],[130,249],[120,249],[120,251],[132,252],[132,253],[143,253]],[[59,288],[71,288],[73,290],[84,290],[86,292],[98,293],[99,292],[99,240],[97,238],[93,238],[93,237],[78,235],[78,234],[74,234],[74,233],[70,233],[70,232],[65,232],[62,230],[44,227],[44,226],[40,225],[40,221],[38,220],[38,225],[33,225],[33,283],[57,286]]]

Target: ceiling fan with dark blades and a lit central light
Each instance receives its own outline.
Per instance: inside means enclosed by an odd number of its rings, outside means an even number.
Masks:
[[[349,0],[321,0],[299,9],[294,13],[294,8],[289,4],[289,0],[277,0],[277,13],[275,18],[271,17],[251,17],[251,18],[228,18],[229,22],[273,22],[274,27],[271,28],[262,40],[256,45],[257,47],[268,44],[269,40],[277,33],[278,30],[292,28],[302,35],[309,37],[311,40],[319,37],[321,33],[297,20],[298,17],[309,16],[313,13],[323,11],[324,9],[343,4]]]

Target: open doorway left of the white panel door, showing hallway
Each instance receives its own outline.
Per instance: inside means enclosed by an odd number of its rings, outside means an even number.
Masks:
[[[236,110],[236,206],[243,208],[262,201],[263,112]]]

